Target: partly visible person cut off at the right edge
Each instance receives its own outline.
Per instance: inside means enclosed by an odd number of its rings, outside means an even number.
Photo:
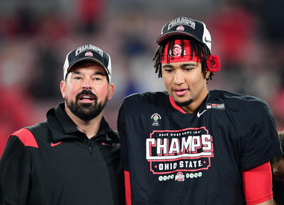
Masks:
[[[281,148],[284,150],[284,130],[278,131]],[[270,160],[272,169],[272,191],[275,205],[284,205],[284,154]]]

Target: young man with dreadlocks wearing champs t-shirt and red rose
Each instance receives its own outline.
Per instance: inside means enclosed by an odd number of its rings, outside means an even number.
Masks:
[[[204,23],[172,20],[157,43],[167,91],[126,97],[117,120],[127,204],[272,204],[269,159],[282,151],[268,105],[207,91],[220,58]]]

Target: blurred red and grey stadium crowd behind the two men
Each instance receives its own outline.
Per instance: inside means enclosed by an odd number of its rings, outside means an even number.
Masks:
[[[283,0],[1,0],[0,155],[10,134],[63,101],[65,57],[82,45],[111,56],[115,92],[104,116],[116,130],[125,96],[165,90],[152,58],[162,27],[180,16],[206,24],[221,58],[208,90],[264,99],[283,129],[283,11]]]

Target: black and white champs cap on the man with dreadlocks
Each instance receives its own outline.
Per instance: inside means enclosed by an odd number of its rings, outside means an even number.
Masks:
[[[191,18],[176,18],[162,28],[162,34],[158,37],[157,43],[162,42],[172,36],[190,36],[205,44],[211,52],[211,36],[206,25]]]

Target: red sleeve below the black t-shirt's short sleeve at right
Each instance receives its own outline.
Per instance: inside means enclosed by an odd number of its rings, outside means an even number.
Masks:
[[[259,204],[272,198],[272,173],[269,161],[243,171],[246,204]]]

